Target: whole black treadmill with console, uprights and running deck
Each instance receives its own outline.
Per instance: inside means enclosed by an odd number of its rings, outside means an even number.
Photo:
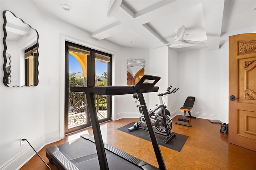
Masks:
[[[150,121],[143,93],[157,92],[154,85],[160,77],[144,75],[135,86],[70,87],[70,91],[83,92],[88,102],[88,111],[94,137],[83,134],[80,138],[59,146],[46,148],[46,156],[59,170],[166,170],[161,150]],[[154,148],[158,168],[123,152],[102,140],[100,125],[94,103],[94,95],[138,95],[148,133]]]

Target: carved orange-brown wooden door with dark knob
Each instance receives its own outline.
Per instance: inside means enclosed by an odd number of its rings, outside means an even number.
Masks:
[[[229,37],[229,136],[256,151],[256,34]]]

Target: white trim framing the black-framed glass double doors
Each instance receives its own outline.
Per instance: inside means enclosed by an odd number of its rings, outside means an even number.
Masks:
[[[65,34],[60,33],[60,139],[63,139],[65,137],[65,111],[64,111],[64,106],[65,106],[65,41],[76,43],[83,45],[85,47],[89,47],[92,49],[96,49],[98,51],[102,51],[105,53],[112,54],[114,57],[114,54],[116,51],[112,51],[110,49],[106,49],[104,47],[100,47],[98,45],[94,45],[92,43],[85,42],[83,40],[79,40],[77,38],[72,38],[70,36],[67,36]],[[114,67],[114,65],[113,65]],[[112,72],[112,75],[113,72]],[[112,107],[112,113],[114,113],[114,108]]]

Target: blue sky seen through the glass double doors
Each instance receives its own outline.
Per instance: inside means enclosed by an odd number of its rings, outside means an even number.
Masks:
[[[107,64],[102,63],[97,60],[96,62],[96,75],[102,76],[103,72],[107,72]],[[71,54],[69,54],[69,73],[77,73],[77,72],[83,72],[82,67],[80,66],[79,62],[73,57]]]

